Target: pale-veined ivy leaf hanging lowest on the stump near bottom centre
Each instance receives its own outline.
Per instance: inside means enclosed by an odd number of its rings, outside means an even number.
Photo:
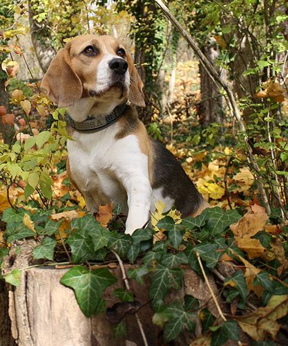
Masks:
[[[189,331],[195,330],[197,314],[194,312],[184,311],[181,300],[169,304],[166,311],[173,315],[173,318],[166,322],[164,330],[164,340],[166,342],[177,338],[184,328]]]

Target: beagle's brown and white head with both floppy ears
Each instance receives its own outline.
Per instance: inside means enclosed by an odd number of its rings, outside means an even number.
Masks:
[[[128,98],[145,107],[133,59],[126,46],[110,36],[71,39],[52,60],[41,88],[58,107],[72,106],[84,97],[107,102]]]

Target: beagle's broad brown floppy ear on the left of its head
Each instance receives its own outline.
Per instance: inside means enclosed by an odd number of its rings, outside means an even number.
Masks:
[[[70,63],[70,45],[61,48],[52,60],[44,78],[41,89],[59,108],[75,104],[81,98],[83,87]]]

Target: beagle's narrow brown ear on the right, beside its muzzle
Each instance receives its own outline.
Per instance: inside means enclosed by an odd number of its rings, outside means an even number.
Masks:
[[[129,66],[129,71],[131,71],[132,69],[130,74],[128,100],[131,103],[135,104],[135,106],[145,107],[146,104],[144,102],[144,98],[142,97],[143,82],[140,78],[140,75],[137,72],[137,69],[133,64],[133,59],[130,54],[128,54],[127,56],[127,62]]]

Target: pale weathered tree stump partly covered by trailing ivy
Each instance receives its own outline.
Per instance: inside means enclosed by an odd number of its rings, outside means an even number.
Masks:
[[[6,272],[12,268],[26,268],[32,259],[32,248],[30,240],[21,244],[21,254],[15,257],[14,248],[6,259]],[[14,261],[14,263],[13,263]],[[8,264],[12,267],[8,268]],[[125,270],[136,265],[125,264]],[[186,294],[193,295],[200,302],[218,316],[207,284],[202,278],[191,270],[189,266],[183,266],[184,280],[182,290],[171,289],[165,298],[165,303],[176,301]],[[9,294],[9,315],[12,323],[12,336],[19,346],[124,346],[144,345],[140,328],[137,324],[135,314],[124,313],[122,318],[126,325],[126,336],[119,341],[113,338],[112,323],[108,320],[106,313],[99,313],[96,317],[86,318],[81,312],[75,293],[72,289],[60,283],[61,277],[69,268],[57,269],[50,266],[32,267],[21,271],[20,284]],[[106,308],[112,308],[115,304],[122,302],[113,294],[119,287],[125,289],[122,271],[119,266],[110,269],[118,281],[104,291],[103,298],[106,300]],[[142,322],[144,334],[149,346],[162,345],[162,329],[153,325],[154,314],[149,304],[150,280],[146,277],[144,285],[141,286],[135,280],[129,280],[131,292],[135,295],[140,309],[137,311]],[[209,275],[209,282],[213,291],[217,286],[213,275]],[[185,331],[170,345],[189,345],[193,339],[201,334],[200,323],[197,323],[195,333]],[[229,343],[234,345],[234,343]]]

